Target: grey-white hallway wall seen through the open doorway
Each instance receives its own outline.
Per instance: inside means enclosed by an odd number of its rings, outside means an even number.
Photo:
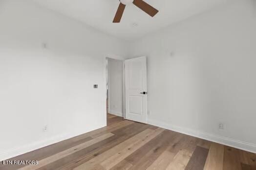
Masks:
[[[123,117],[123,61],[108,58],[109,113]]]

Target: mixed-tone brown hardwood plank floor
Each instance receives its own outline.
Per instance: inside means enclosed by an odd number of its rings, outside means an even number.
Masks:
[[[107,127],[10,160],[0,170],[256,170],[256,154],[107,115]]]

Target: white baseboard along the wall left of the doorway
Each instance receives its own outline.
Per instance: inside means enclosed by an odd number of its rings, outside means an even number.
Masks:
[[[102,128],[104,126],[106,126],[106,125],[99,126],[96,129]],[[0,161],[7,160],[7,159],[10,159],[12,157],[24,154],[24,153],[29,153],[31,151],[35,151],[35,150],[43,148],[45,146],[49,146],[49,145],[52,145],[54,143],[66,140],[66,139],[82,135],[84,133],[86,133],[86,132],[72,133],[72,134],[69,134],[69,133],[62,134],[62,135],[47,138],[46,140],[38,141],[38,142],[35,142],[35,143],[32,143],[32,144],[27,144],[27,145],[24,145],[24,146],[21,146],[21,147],[12,148],[12,149],[5,150],[5,151],[0,151]]]

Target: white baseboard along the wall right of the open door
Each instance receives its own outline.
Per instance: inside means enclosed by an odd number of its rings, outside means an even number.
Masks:
[[[195,130],[188,129],[188,128],[173,126],[166,122],[161,122],[161,121],[156,121],[156,120],[148,120],[148,123],[151,125],[154,125],[154,126],[158,126],[158,127],[164,128],[164,129],[171,130],[171,131],[175,131],[175,132],[179,132],[179,133],[186,134],[189,136],[194,136],[194,137],[202,138],[205,140],[213,141],[216,143],[220,143],[223,145],[227,145],[227,146],[241,149],[244,151],[248,151],[251,153],[256,153],[256,145],[252,144],[252,143],[243,142],[243,141],[239,141],[239,140],[235,140],[235,139],[231,139],[231,138],[227,138],[227,137],[223,137],[223,136],[216,136],[213,134],[199,132],[199,131],[195,131]]]

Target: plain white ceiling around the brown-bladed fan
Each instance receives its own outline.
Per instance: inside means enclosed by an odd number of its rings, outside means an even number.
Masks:
[[[141,37],[159,28],[205,12],[227,0],[145,0],[159,10],[150,17],[134,4],[126,6],[121,23],[112,23],[119,0],[34,0],[98,30],[126,40]],[[133,27],[132,23],[137,23]]]

